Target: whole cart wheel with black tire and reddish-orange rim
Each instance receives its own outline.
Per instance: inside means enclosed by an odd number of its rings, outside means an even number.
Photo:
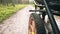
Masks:
[[[30,15],[28,34],[46,34],[44,22],[38,14]]]

